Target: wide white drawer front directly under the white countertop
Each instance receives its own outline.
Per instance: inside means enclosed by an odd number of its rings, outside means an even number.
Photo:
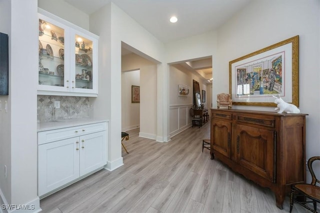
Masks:
[[[38,145],[106,130],[106,122],[80,125],[38,133]]]

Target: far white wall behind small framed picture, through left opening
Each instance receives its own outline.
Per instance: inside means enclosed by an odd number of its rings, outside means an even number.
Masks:
[[[123,59],[122,59],[123,62]],[[131,86],[140,86],[140,70],[121,73],[121,131],[140,126],[140,103],[131,103]]]

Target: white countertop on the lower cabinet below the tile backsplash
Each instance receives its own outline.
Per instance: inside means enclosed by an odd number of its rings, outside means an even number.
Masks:
[[[38,123],[37,132],[74,127],[74,126],[80,126],[80,125],[86,125],[86,124],[94,124],[94,123],[100,123],[100,122],[106,122],[106,121],[107,120],[83,118],[83,119],[69,119],[69,120],[42,122],[42,123]]]

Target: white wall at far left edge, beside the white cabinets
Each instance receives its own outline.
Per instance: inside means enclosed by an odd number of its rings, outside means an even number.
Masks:
[[[23,17],[21,19],[21,17]],[[5,204],[32,204],[37,197],[36,85],[37,2],[0,0],[1,31],[9,35],[9,95],[1,97],[0,189]],[[17,27],[19,26],[19,27]],[[21,34],[21,32],[23,32]],[[21,36],[27,38],[21,39]],[[34,52],[34,54],[30,54]],[[27,57],[26,57],[27,56]],[[7,111],[4,110],[7,101]],[[7,177],[4,178],[4,165]]]

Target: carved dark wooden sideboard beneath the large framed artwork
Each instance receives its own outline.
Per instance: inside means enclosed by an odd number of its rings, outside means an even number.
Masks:
[[[283,209],[290,185],[305,182],[306,115],[211,109],[211,159],[269,188]]]

